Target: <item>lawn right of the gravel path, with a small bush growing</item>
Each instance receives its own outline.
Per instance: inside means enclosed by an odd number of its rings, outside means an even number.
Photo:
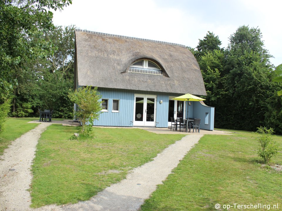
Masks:
[[[204,135],[141,210],[216,210],[217,203],[221,210],[233,203],[282,206],[282,173],[259,163],[254,134],[233,132],[232,136]],[[273,138],[282,148],[282,137]],[[273,163],[282,164],[281,151]]]

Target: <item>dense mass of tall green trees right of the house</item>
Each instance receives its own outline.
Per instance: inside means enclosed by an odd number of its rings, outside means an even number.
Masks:
[[[241,26],[230,36],[228,47],[220,50],[219,45],[203,44],[215,40],[208,35],[199,40],[194,55],[204,79],[206,103],[216,107],[215,127],[254,131],[266,125],[282,133],[281,99],[274,94],[281,84],[272,82],[271,55],[263,48],[260,30]]]

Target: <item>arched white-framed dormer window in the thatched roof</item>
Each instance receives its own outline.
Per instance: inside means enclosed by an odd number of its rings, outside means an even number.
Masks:
[[[155,62],[147,59],[138,60],[131,64],[129,72],[163,75],[162,69]]]

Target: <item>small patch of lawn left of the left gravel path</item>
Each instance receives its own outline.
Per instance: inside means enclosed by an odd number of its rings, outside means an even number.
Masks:
[[[0,133],[0,155],[3,154],[12,141],[19,138],[24,133],[35,128],[38,124],[28,123],[35,118],[7,118],[4,125],[4,131]]]

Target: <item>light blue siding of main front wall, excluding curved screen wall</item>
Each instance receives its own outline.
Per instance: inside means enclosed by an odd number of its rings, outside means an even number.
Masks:
[[[97,126],[133,127],[134,94],[155,95],[156,98],[156,127],[168,126],[169,96],[179,96],[179,93],[164,93],[127,89],[98,88],[102,98],[108,99],[108,112],[103,112],[99,120],[93,122]],[[112,112],[113,99],[120,100],[120,112]],[[160,100],[163,101],[160,104]]]

